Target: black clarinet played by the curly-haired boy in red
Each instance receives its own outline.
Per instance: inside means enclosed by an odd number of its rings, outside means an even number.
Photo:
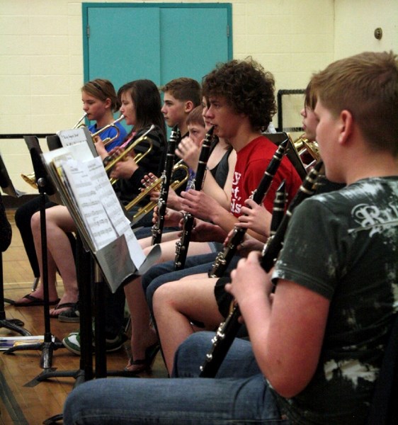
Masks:
[[[214,125],[209,129],[203,140],[202,149],[200,150],[198,169],[196,170],[195,179],[193,181],[193,188],[195,191],[200,191],[205,180],[207,160],[210,156],[210,145],[212,141],[212,134]],[[188,246],[191,240],[191,233],[193,229],[193,222],[195,217],[186,212],[183,216],[183,230],[181,238],[176,242],[176,256],[174,258],[174,270],[181,270],[185,266],[186,256],[188,254]]]

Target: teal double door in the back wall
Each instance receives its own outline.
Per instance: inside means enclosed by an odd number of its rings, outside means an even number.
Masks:
[[[84,81],[201,81],[232,59],[231,4],[83,3]]]

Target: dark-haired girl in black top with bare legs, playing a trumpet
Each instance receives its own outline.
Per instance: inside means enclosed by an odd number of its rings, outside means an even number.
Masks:
[[[127,86],[126,89],[124,89],[125,86]],[[161,124],[161,121],[159,121],[159,117],[161,117],[161,102],[157,86],[149,80],[132,81],[125,86],[119,91],[122,103],[120,112],[125,115],[127,125],[133,126],[132,131],[127,136],[125,148],[141,137],[154,124],[154,128],[147,134],[147,140],[137,146],[134,149],[135,152],[132,152],[131,155],[129,154],[125,161],[120,161],[110,174],[110,176],[119,179],[115,184],[115,191],[120,196],[120,200],[128,202],[139,193],[142,176],[149,172],[158,172],[159,164],[161,164],[159,159],[163,157],[166,138],[164,125],[163,128],[157,125],[158,123]],[[135,93],[134,98],[132,93]],[[143,106],[140,103],[141,99],[145,99]],[[134,155],[149,149],[149,141],[152,142],[152,150],[142,159],[140,164],[136,164]],[[98,154],[103,158],[104,164],[106,164],[108,162],[108,152],[101,140],[96,141],[96,148]],[[112,149],[110,154],[121,152],[122,149],[124,148],[119,149],[117,147]],[[50,317],[59,317],[59,314],[62,312],[66,313],[68,310],[74,311],[76,309],[76,302],[79,295],[74,257],[69,240],[67,239],[67,233],[76,231],[76,225],[67,208],[62,205],[56,205],[50,208],[50,210],[47,210],[46,224],[49,299],[53,304],[55,303],[53,300],[58,299],[55,285],[55,273],[57,269],[64,283],[64,294],[61,300],[57,302],[54,309],[50,310]],[[41,259],[40,214],[38,212],[32,217],[31,227],[36,254]],[[42,264],[40,262],[39,266],[40,276],[42,276]],[[30,296],[42,300],[42,291],[43,288],[40,285]],[[66,317],[65,321],[78,321],[79,316],[75,315],[73,319]]]

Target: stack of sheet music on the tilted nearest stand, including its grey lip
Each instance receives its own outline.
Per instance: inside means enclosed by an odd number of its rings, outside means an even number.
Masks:
[[[115,292],[127,278],[140,273],[139,268],[147,270],[157,261],[159,252],[150,259],[144,255],[101,158],[91,155],[88,160],[77,160],[74,149],[80,145],[56,149],[43,156],[64,205]]]

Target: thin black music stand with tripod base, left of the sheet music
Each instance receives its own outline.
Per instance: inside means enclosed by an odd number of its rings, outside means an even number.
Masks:
[[[44,310],[44,323],[45,333],[44,341],[38,344],[25,344],[20,346],[14,346],[4,351],[4,354],[11,354],[15,351],[21,350],[40,350],[42,356],[40,359],[40,367],[42,369],[50,369],[52,365],[52,353],[57,348],[64,348],[59,339],[52,336],[50,330],[50,303],[48,294],[48,271],[47,271],[47,229],[45,222],[45,203],[46,195],[52,195],[55,193],[55,188],[52,185],[45,166],[42,163],[40,157],[41,149],[38,138],[35,136],[24,137],[26,145],[30,152],[32,159],[33,170],[35,171],[36,181],[38,183],[38,189],[40,194],[40,227],[41,227],[41,239],[42,239],[42,286],[43,286],[43,310]]]

